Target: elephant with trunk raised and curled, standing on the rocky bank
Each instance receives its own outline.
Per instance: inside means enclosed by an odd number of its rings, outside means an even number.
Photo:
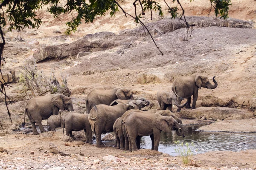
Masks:
[[[209,88],[214,89],[218,86],[215,81],[215,76],[212,78],[214,85],[209,82],[208,77],[204,75],[192,75],[189,77],[178,77],[175,79],[172,85],[172,91],[177,96],[177,101],[180,102],[183,98],[187,99],[186,108],[191,108],[191,96],[193,96],[192,109],[195,109],[195,104],[198,98],[198,88]],[[180,112],[180,108],[177,109]]]

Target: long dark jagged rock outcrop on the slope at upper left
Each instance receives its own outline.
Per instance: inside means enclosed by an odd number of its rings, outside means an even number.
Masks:
[[[116,47],[117,44],[110,40],[88,41],[88,37],[81,38],[70,44],[49,45],[33,54],[36,62],[47,59],[62,59],[65,57],[77,57],[80,52],[104,51]]]

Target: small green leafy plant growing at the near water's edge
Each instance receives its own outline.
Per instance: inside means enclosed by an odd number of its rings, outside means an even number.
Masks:
[[[193,156],[192,147],[194,147],[194,142],[191,142],[191,146],[189,146],[189,143],[186,142],[185,144],[180,141],[174,142],[177,146],[175,149],[175,152],[181,157],[183,164],[188,164]]]

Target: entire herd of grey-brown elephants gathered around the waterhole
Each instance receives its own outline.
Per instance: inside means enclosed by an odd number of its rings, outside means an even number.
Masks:
[[[66,135],[75,139],[72,131],[84,130],[86,142],[92,143],[92,133],[96,135],[96,147],[104,147],[101,140],[102,133],[114,132],[116,147],[122,150],[135,151],[140,149],[142,136],[150,136],[152,150],[158,150],[161,131],[171,132],[175,130],[178,136],[184,137],[182,121],[172,113],[172,105],[180,108],[191,108],[191,96],[193,96],[192,109],[195,108],[198,97],[198,88],[213,89],[217,87],[215,77],[214,85],[203,75],[178,77],[172,85],[172,91],[157,91],[157,101],[160,110],[140,109],[149,105],[150,101],[143,97],[134,97],[131,90],[114,88],[111,90],[93,90],[86,97],[86,113],[74,112],[70,97],[63,94],[37,96],[30,99],[25,107],[26,114],[33,128],[33,134],[39,134],[36,130],[37,123],[41,133],[45,132],[41,121],[48,119],[48,130],[55,131],[56,127],[66,129]],[[183,98],[187,102],[180,105]],[[168,110],[166,110],[168,108]],[[59,110],[70,111],[65,116],[58,116]]]

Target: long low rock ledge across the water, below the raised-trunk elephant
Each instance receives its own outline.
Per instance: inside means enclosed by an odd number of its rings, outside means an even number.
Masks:
[[[231,120],[248,119],[253,117],[253,113],[247,110],[221,107],[201,107],[196,109],[182,109],[176,113],[180,118],[186,119],[213,119],[213,120]]]

